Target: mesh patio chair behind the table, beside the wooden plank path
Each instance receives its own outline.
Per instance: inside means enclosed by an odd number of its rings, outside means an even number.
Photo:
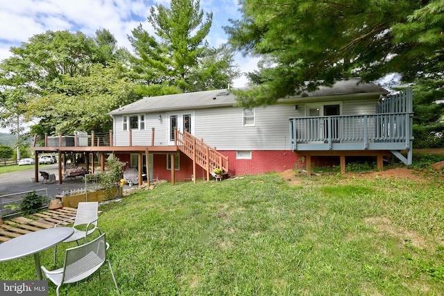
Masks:
[[[85,238],[85,243],[88,241],[87,236],[92,234],[96,229],[99,230],[99,234],[101,231],[97,226],[97,220],[99,220],[98,216],[99,211],[99,202],[79,202],[77,207],[76,218],[74,218],[74,234],[69,236],[63,243],[70,243],[71,241],[75,241],[78,245],[78,241],[82,238]],[[67,220],[63,220],[62,222],[57,223],[54,227],[58,227],[62,223],[66,223],[73,218],[69,218]],[[76,228],[80,227],[80,229]],[[56,263],[56,254],[57,254],[57,245],[54,247],[54,263]]]

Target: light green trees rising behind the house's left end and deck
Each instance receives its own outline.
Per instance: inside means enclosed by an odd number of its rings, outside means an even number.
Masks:
[[[94,37],[82,32],[33,35],[0,64],[0,124],[21,132],[17,121],[32,122],[31,134],[108,132],[108,115],[143,96],[222,89],[239,77],[234,49],[205,42],[212,13],[199,0],[156,5],[147,21],[128,35],[133,53],[119,47],[107,29]]]

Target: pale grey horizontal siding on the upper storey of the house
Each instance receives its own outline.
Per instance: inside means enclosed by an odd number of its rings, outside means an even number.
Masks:
[[[375,96],[334,98],[331,101],[341,104],[341,115],[375,114],[377,104]],[[310,104],[332,105],[331,101],[318,99]],[[145,130],[133,130],[133,146],[151,145],[151,128],[155,128],[154,145],[168,145],[169,115],[193,114],[192,134],[217,150],[290,150],[289,118],[305,117],[306,104],[280,103],[256,107],[254,111],[254,125],[251,126],[244,125],[244,108],[241,107],[180,110],[162,113],[161,120],[158,119],[159,112],[145,114]],[[119,129],[114,130],[114,143],[128,146],[128,131],[122,131],[122,126],[122,116],[114,116],[114,127]]]

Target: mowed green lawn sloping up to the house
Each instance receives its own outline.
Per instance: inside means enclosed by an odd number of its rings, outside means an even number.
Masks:
[[[162,184],[102,205],[121,295],[444,294],[442,174],[300,179]],[[1,279],[35,279],[33,265],[0,263]],[[107,269],[62,295],[116,295]]]

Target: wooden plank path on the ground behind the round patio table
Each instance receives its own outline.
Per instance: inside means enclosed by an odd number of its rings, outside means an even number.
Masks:
[[[62,207],[61,209],[50,209],[40,213],[31,214],[31,218],[16,217],[10,220],[3,220],[0,225],[0,243],[9,241],[11,238],[37,232],[42,229],[52,228],[57,223],[72,218],[73,220],[62,225],[74,223],[77,209],[71,207]]]

